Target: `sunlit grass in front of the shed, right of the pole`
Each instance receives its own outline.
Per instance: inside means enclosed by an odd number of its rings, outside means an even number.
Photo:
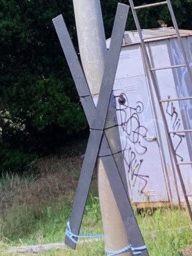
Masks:
[[[138,215],[137,220],[151,256],[181,255],[192,244],[191,223],[185,210],[158,209],[152,216]]]

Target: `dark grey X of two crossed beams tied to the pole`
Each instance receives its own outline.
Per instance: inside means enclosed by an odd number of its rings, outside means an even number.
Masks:
[[[73,234],[79,234],[96,160],[98,155],[104,155],[104,157],[102,157],[102,163],[104,164],[114,198],[116,199],[117,207],[119,208],[122,216],[126,234],[128,235],[129,242],[132,246],[137,247],[144,245],[144,241],[129,201],[125,169],[122,166],[123,158],[117,157],[119,155],[117,154],[118,151],[114,148],[113,143],[110,142],[109,131],[111,129],[108,129],[107,132],[104,131],[106,128],[105,123],[108,107],[110,105],[117,64],[119,62],[119,54],[125,31],[128,10],[128,5],[118,4],[117,6],[111,44],[105,61],[104,76],[99,92],[97,107],[94,106],[87,80],[81,64],[79,63],[78,56],[76,55],[75,48],[73,47],[72,40],[70,39],[69,32],[67,31],[63,16],[59,15],[55,17],[53,19],[53,23],[91,129],[84,162],[82,164],[81,175],[76,190],[76,196],[73,202],[72,214],[70,217],[70,228],[72,229]],[[69,237],[66,237],[65,243],[72,249],[75,249],[76,247],[76,243],[70,240]],[[141,255],[149,256],[147,249],[142,251]]]

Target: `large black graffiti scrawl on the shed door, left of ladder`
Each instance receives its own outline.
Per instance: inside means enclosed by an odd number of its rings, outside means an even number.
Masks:
[[[138,101],[136,107],[131,107],[125,93],[119,95],[118,98],[119,108],[117,108],[117,111],[120,112],[120,125],[126,137],[126,143],[123,148],[124,160],[128,167],[128,173],[131,174],[132,186],[134,186],[137,179],[142,180],[144,185],[140,193],[143,193],[147,186],[147,178],[149,178],[148,175],[140,174],[143,159],[138,157],[147,152],[146,146],[143,145],[143,140],[146,140],[147,128],[140,123],[140,114],[144,109],[143,103]],[[130,146],[128,148],[129,142],[132,143],[134,148]],[[125,157],[125,152],[127,151],[128,155]]]

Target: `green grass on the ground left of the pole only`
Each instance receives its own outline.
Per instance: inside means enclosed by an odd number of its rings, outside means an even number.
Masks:
[[[6,246],[38,245],[43,243],[61,242],[64,230],[70,216],[70,207],[65,204],[66,198],[57,199],[52,204],[42,205],[14,205],[6,211],[6,217],[1,219],[0,252]],[[86,207],[85,218],[82,223],[83,232],[102,233],[101,214],[97,197],[90,197]],[[87,251],[87,254],[85,252]],[[51,250],[40,255],[60,255],[63,252]],[[104,242],[81,243],[77,251],[64,250],[64,255],[102,255]]]

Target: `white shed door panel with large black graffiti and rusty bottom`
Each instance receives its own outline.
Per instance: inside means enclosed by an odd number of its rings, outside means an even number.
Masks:
[[[146,77],[117,79],[114,88],[131,198],[134,202],[168,201]]]

